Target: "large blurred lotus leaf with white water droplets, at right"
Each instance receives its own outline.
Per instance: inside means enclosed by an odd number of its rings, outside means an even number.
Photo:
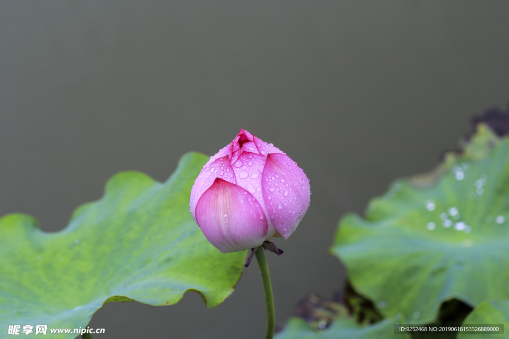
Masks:
[[[509,139],[480,124],[462,153],[343,218],[331,252],[385,317],[428,323],[446,300],[509,298],[508,224]]]

